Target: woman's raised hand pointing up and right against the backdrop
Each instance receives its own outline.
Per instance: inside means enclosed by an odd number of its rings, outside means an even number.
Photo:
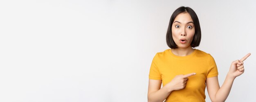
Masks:
[[[233,61],[231,63],[230,69],[229,69],[229,75],[233,78],[236,78],[237,76],[240,76],[245,72],[244,63],[245,59],[247,59],[248,56],[250,56],[251,53],[245,55],[242,59]]]

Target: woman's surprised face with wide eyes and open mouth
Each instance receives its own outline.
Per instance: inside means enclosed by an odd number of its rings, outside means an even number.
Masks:
[[[173,21],[172,36],[178,48],[191,47],[195,25],[189,13],[180,13]]]

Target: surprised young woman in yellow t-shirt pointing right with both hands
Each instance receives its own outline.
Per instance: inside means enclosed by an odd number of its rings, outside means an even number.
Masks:
[[[150,67],[148,102],[205,102],[206,86],[212,102],[227,99],[234,79],[244,73],[243,61],[250,53],[231,63],[220,87],[213,57],[195,49],[200,40],[200,24],[193,9],[180,7],[175,10],[166,34],[171,49],[158,52]]]

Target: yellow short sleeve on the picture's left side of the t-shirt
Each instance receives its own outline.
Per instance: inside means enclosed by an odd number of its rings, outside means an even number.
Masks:
[[[153,61],[150,66],[149,78],[154,80],[162,80],[161,75],[159,73],[159,69],[155,65],[155,57],[153,58]]]

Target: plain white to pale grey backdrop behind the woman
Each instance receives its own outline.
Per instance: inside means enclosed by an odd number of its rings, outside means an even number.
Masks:
[[[1,0],[0,102],[147,102],[153,56],[180,6],[202,30],[223,84],[251,52],[226,102],[256,102],[254,0]],[[207,89],[206,102],[211,102]]]

